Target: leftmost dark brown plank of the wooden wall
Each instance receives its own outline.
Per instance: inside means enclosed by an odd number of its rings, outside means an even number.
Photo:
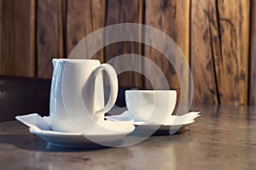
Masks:
[[[35,0],[3,0],[2,74],[35,76]]]

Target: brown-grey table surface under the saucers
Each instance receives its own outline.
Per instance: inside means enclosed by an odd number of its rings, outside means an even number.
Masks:
[[[0,123],[0,169],[255,169],[256,108],[194,106],[195,123],[123,148],[49,146],[20,122]]]

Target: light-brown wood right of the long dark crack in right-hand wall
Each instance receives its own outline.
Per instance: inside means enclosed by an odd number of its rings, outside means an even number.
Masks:
[[[221,58],[215,67],[224,105],[247,105],[249,7],[249,0],[218,1]]]

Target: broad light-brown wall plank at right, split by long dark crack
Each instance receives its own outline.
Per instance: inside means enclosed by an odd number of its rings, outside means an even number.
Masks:
[[[192,0],[190,58],[196,101],[247,105],[249,11],[249,0]]]

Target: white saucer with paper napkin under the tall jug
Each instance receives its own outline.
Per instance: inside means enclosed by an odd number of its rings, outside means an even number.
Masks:
[[[112,122],[106,121],[107,124],[115,124],[119,127],[118,131],[107,131],[108,133],[63,133],[52,131],[49,127],[48,116],[38,116],[30,114],[26,116],[16,116],[18,121],[30,127],[31,133],[38,135],[51,145],[66,148],[95,148],[101,145],[110,146],[122,143],[122,139],[135,129],[131,122]]]

